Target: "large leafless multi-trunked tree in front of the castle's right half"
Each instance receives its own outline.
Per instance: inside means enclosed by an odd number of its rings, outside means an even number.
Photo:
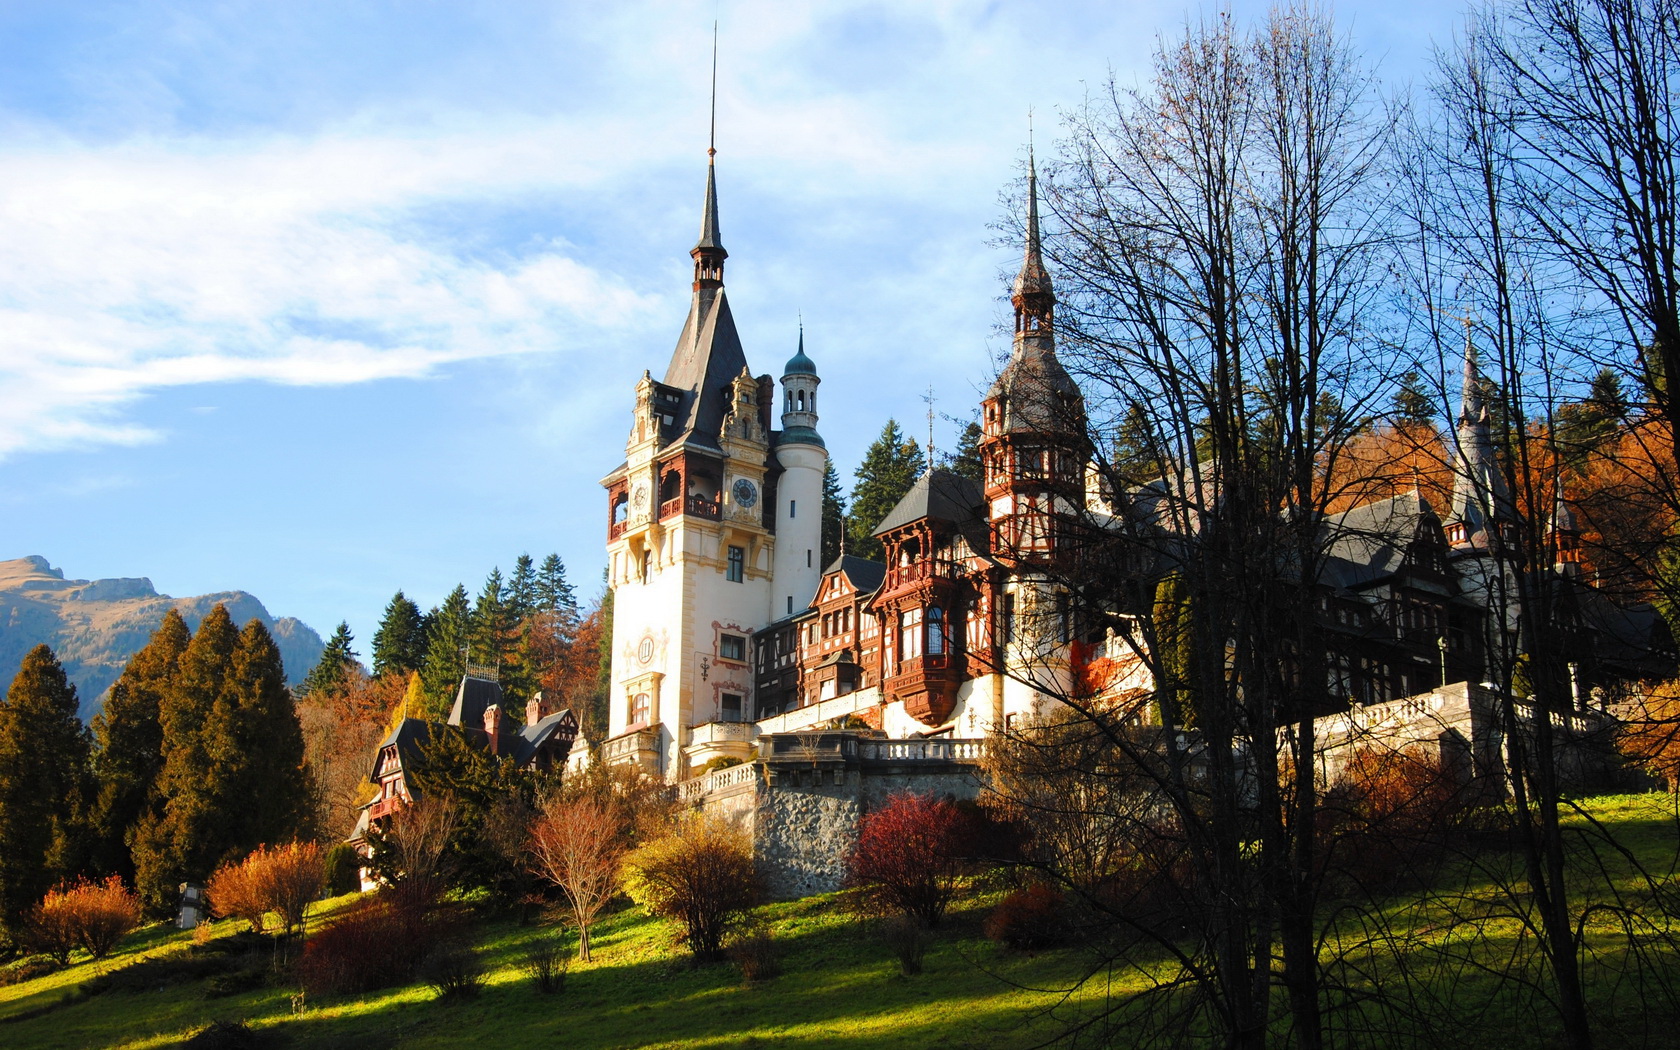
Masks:
[[[1132,924],[1179,968],[1119,1006],[1154,1010],[1163,1043],[1211,1028],[1263,1045],[1273,984],[1292,1042],[1326,1040],[1312,719],[1336,697],[1317,601],[1334,464],[1401,375],[1378,331],[1391,131],[1329,18],[1287,8],[1163,45],[1147,86],[1110,84],[1074,114],[1053,171],[1055,331],[1099,457],[1126,455],[1104,464],[1114,506],[1087,533],[1094,554],[1052,575],[1154,684],[1119,704],[1058,699],[1110,751],[1095,768],[1129,766],[1149,801],[1092,798],[1196,895],[1188,937]],[[1097,570],[1104,548],[1129,570]],[[1077,732],[1058,721],[1040,746]]]

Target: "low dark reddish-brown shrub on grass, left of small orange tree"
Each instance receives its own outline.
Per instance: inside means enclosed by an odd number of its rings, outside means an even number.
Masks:
[[[438,914],[371,897],[304,942],[297,976],[311,995],[360,995],[402,984],[449,932]]]

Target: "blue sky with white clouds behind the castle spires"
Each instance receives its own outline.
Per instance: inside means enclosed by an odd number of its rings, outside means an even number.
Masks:
[[[1265,3],[1233,3],[1240,20]],[[949,449],[1008,349],[1028,113],[1174,2],[0,0],[0,559],[247,590],[368,655],[558,553],[600,590],[633,386],[687,311],[717,22],[726,282],[803,318],[843,487]],[[1462,3],[1334,8],[1393,89]]]

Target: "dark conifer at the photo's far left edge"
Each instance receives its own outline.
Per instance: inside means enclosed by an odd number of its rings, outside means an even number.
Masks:
[[[52,648],[37,645],[0,699],[0,924],[12,932],[86,864],[91,746],[76,687]]]

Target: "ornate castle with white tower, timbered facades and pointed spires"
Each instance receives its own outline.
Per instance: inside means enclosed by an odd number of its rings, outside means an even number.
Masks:
[[[746,761],[761,739],[853,726],[889,739],[983,738],[1038,709],[1094,660],[1110,689],[1147,690],[1131,643],[1089,632],[1060,573],[1122,499],[1090,470],[1084,398],[1057,360],[1037,173],[1011,289],[1013,348],[981,403],[981,484],[931,469],[880,521],[884,563],[820,564],[816,363],[803,331],[780,378],[754,376],[724,289],[716,163],[690,255],[687,321],[664,378],[643,371],[625,462],[606,491],[610,731],[600,758],[667,781]],[[1420,494],[1326,521],[1319,617],[1332,696],[1384,704],[1487,677],[1509,630],[1494,556],[1510,499],[1495,465],[1473,349],[1465,360],[1455,492],[1445,516]],[[780,427],[778,427],[780,423]],[[1571,660],[1651,652],[1650,610],[1616,610],[1579,580],[1579,536],[1551,521],[1559,586],[1579,593]],[[1137,576],[1159,575],[1137,566]],[[1147,613],[1147,590],[1117,603]],[[1596,610],[1596,612],[1594,612]],[[1614,638],[1611,637],[1614,635]],[[1586,702],[1581,684],[1578,701]]]

